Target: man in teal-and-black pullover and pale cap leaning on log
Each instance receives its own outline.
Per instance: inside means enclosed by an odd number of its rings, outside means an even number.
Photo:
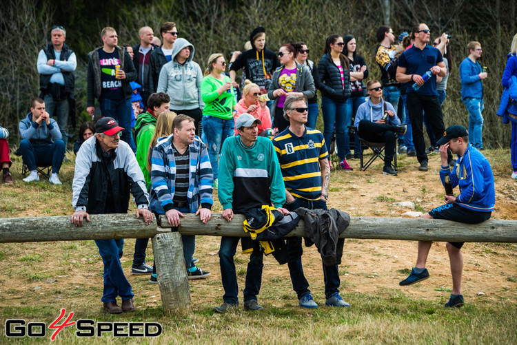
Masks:
[[[244,213],[262,205],[281,208],[285,202],[285,186],[278,159],[270,139],[258,136],[258,118],[244,113],[235,121],[239,135],[227,138],[221,148],[219,160],[219,201],[223,205],[221,216],[230,222],[234,213]],[[234,255],[240,238],[223,236],[219,259],[223,280],[223,304],[214,311],[226,313],[239,307],[237,275]],[[262,282],[263,249],[256,242],[247,264],[244,289],[244,310],[259,311],[263,307],[256,300]]]

